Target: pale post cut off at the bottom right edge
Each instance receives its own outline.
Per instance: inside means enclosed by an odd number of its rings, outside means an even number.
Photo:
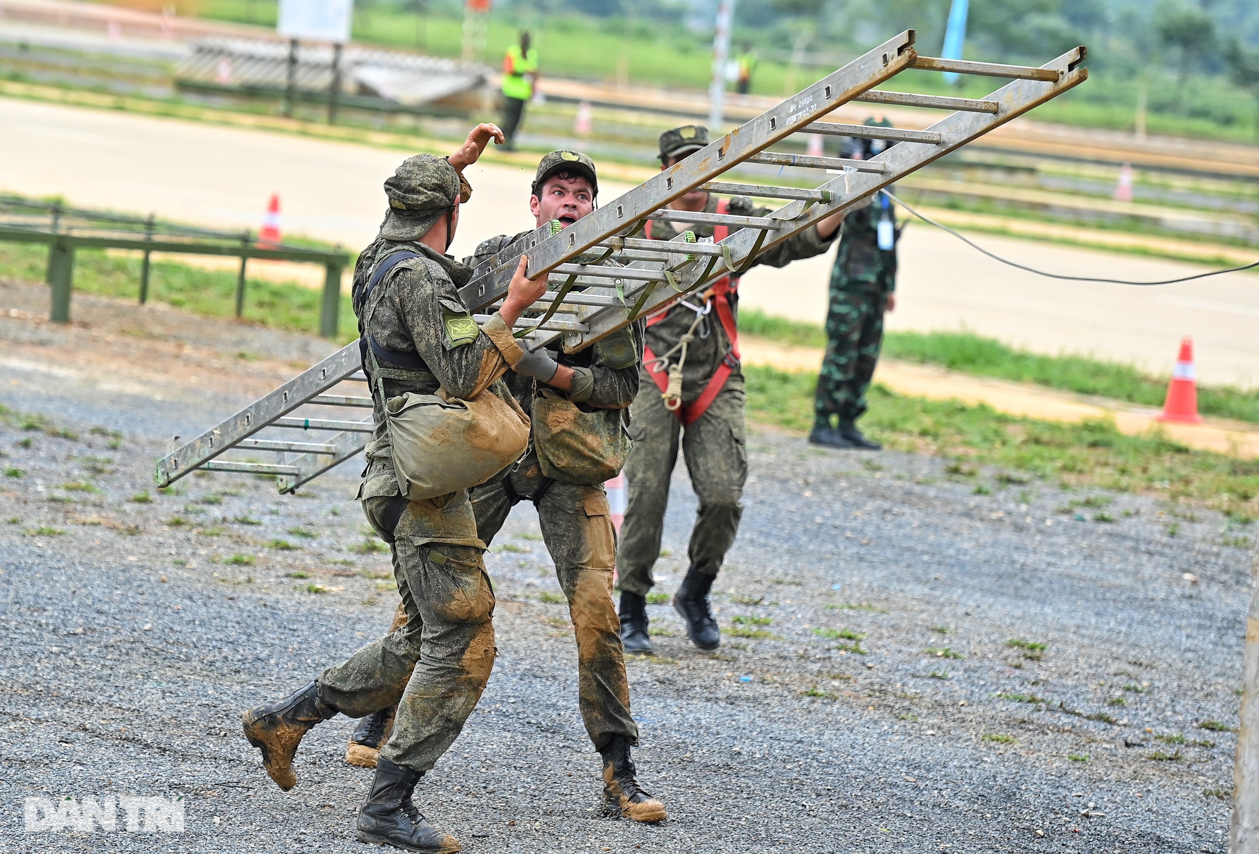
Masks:
[[[1250,564],[1250,612],[1241,659],[1241,714],[1233,765],[1229,854],[1259,854],[1259,542]]]

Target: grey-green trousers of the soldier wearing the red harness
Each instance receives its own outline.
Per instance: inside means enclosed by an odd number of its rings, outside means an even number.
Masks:
[[[617,587],[646,596],[656,583],[652,567],[660,557],[669,481],[679,448],[699,498],[686,549],[690,566],[705,576],[715,576],[739,533],[740,499],[748,479],[743,375],[731,374],[708,411],[684,428],[677,416],[665,408],[656,382],[643,369],[631,413],[630,436],[635,446],[624,469],[630,505],[621,525]]]

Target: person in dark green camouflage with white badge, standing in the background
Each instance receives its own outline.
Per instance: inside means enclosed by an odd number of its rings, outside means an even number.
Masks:
[[[884,116],[865,121],[891,127]],[[888,147],[884,140],[851,140],[844,156],[869,160]],[[838,448],[878,451],[881,445],[857,430],[866,411],[866,389],[883,346],[883,315],[896,307],[896,217],[891,199],[875,195],[844,220],[831,270],[826,312],[826,354],[817,378],[813,432],[808,441]]]

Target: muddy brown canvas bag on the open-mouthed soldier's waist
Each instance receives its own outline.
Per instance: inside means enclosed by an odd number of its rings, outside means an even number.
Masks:
[[[534,447],[543,475],[565,484],[602,484],[624,467],[633,442],[628,409],[583,411],[550,389],[534,397]]]

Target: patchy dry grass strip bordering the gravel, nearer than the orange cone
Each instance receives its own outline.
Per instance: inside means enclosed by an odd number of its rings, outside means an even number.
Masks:
[[[812,374],[745,365],[748,416],[807,432],[813,424]],[[1071,487],[1188,500],[1236,521],[1259,518],[1259,460],[1192,451],[1166,435],[1124,436],[1110,421],[1051,423],[956,401],[900,397],[871,387],[862,430],[898,451],[1016,470]]]

